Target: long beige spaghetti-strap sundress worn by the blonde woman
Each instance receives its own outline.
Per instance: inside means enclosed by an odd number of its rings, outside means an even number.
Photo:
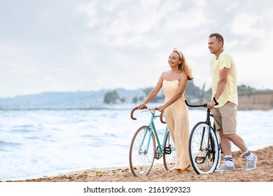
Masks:
[[[179,78],[182,76],[179,76]],[[166,72],[165,72],[166,76]],[[177,80],[163,80],[162,90],[165,94],[165,102],[171,99],[179,87],[179,78]],[[172,105],[168,106],[165,111],[165,120],[169,133],[172,136],[176,146],[176,164],[175,169],[186,169],[190,166],[190,157],[188,153],[189,124],[188,124],[188,106],[186,106],[183,95]]]

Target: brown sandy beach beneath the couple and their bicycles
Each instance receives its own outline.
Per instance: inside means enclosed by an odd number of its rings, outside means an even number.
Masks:
[[[253,151],[258,156],[257,168],[246,171],[246,158],[241,151],[232,152],[235,171],[197,175],[192,167],[183,174],[172,174],[164,165],[153,165],[148,176],[135,177],[130,167],[87,169],[59,176],[27,179],[22,182],[272,182],[273,146]],[[21,182],[21,181],[17,181]]]

